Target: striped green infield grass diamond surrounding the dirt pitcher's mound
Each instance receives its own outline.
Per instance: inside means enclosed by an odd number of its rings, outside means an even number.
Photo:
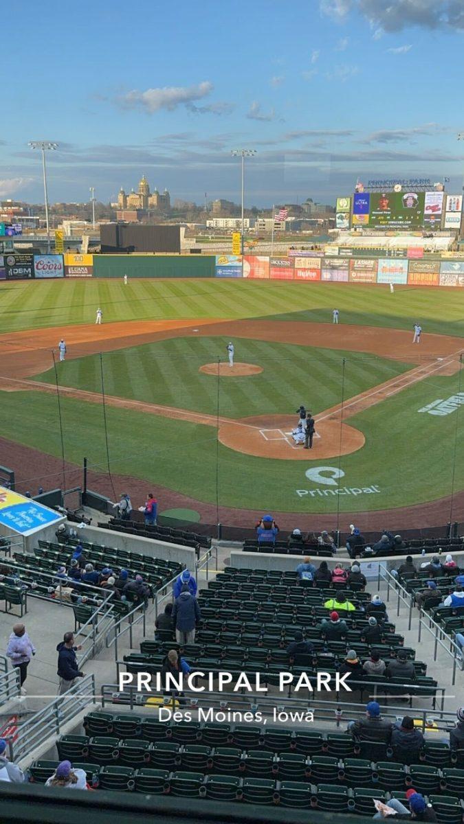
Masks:
[[[175,338],[105,353],[104,390],[149,403],[176,406],[231,418],[256,414],[291,414],[301,403],[313,413],[339,404],[371,386],[410,369],[410,364],[368,353],[239,339],[235,358],[258,363],[253,377],[217,380],[199,372],[204,363],[225,360],[226,338]],[[345,363],[343,366],[343,358]],[[102,391],[100,356],[59,363],[59,382],[78,389]],[[36,376],[54,382],[54,370]]]

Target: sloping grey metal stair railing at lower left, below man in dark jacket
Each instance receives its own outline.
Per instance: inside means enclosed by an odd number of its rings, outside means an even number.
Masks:
[[[43,744],[51,736],[59,736],[66,723],[72,721],[82,710],[95,703],[95,677],[79,678],[78,682],[64,695],[57,697],[43,709],[31,715],[19,726],[14,737],[6,737],[8,757],[18,761]]]

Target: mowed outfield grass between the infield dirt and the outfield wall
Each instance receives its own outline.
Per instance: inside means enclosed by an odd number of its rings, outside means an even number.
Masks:
[[[2,332],[137,319],[235,318],[331,321],[464,335],[462,295],[452,288],[396,288],[353,283],[237,280],[44,280],[0,283]]]

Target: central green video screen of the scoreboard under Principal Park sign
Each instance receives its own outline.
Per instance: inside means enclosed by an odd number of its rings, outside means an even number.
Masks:
[[[425,192],[371,192],[369,226],[386,229],[412,229],[422,226],[424,203]]]

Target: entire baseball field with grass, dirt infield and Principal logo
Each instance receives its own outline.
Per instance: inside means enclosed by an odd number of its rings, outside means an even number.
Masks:
[[[153,489],[192,521],[460,520],[462,308],[452,288],[2,283],[0,463],[34,494],[69,487],[86,456],[92,489],[127,488],[134,505]],[[291,438],[300,404],[312,450]]]

